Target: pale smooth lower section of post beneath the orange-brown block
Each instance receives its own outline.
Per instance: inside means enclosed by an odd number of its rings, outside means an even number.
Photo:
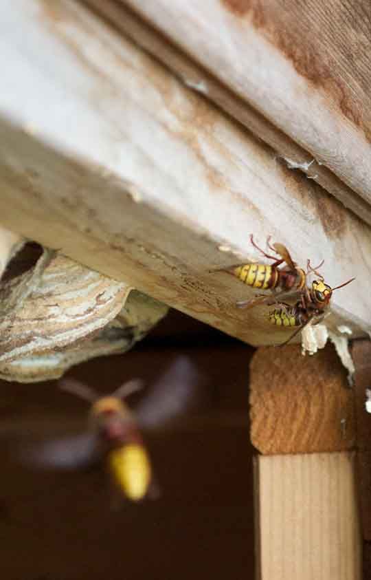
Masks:
[[[260,456],[260,580],[361,580],[351,453]]]

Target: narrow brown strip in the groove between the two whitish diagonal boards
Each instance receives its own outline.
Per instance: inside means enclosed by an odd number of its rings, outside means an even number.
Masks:
[[[278,129],[249,102],[221,83],[216,76],[210,74],[200,63],[200,58],[196,61],[179,50],[167,36],[153,28],[142,17],[125,6],[121,0],[106,0],[105,2],[84,0],[84,3],[102,14],[117,30],[158,58],[186,86],[212,100],[256,137],[269,144],[276,151],[278,162],[286,163],[289,169],[302,171],[309,179],[319,183],[365,222],[371,224],[371,206],[368,202],[337,178],[335,173],[324,164],[313,163],[311,153]]]

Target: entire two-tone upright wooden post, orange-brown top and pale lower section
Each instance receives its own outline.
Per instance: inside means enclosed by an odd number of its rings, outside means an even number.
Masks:
[[[268,453],[256,459],[259,580],[361,579],[354,396],[333,347],[260,348],[250,384],[251,439]]]

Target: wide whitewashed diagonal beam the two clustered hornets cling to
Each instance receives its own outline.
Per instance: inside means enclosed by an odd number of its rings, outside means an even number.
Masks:
[[[7,6],[4,226],[255,345],[287,332],[235,308],[251,292],[212,270],[259,259],[248,233],[271,234],[299,264],[324,257],[333,285],[356,275],[333,324],[368,330],[365,224],[88,10]]]

